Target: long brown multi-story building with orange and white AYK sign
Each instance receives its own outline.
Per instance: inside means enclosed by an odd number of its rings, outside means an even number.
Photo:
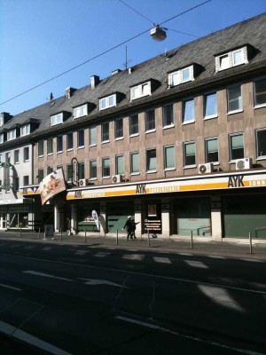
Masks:
[[[263,13],[104,80],[93,75],[12,117],[38,122],[32,185],[21,186],[35,227],[52,221],[58,231],[70,220],[73,232],[99,233],[96,210],[107,235],[130,215],[138,234],[265,238],[265,24]],[[41,200],[39,183],[61,169],[66,189]]]

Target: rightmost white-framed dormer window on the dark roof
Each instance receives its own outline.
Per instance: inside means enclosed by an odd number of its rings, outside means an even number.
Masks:
[[[248,63],[247,46],[216,56],[215,71],[222,71],[224,69],[237,67],[246,63]]]

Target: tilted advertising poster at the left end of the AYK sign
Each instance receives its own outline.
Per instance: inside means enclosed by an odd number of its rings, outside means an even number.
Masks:
[[[51,174],[44,177],[39,186],[42,205],[51,197],[66,190],[66,183],[63,170],[52,171]]]

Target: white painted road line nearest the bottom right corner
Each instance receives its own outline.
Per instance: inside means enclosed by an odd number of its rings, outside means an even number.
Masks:
[[[116,316],[114,317],[115,319],[120,319],[120,320],[123,320],[123,321],[126,321],[126,322],[129,322],[129,323],[134,323],[134,324],[137,324],[139,326],[143,326],[143,327],[150,327],[152,329],[156,329],[156,330],[160,330],[162,332],[165,332],[165,333],[169,333],[169,334],[172,334],[172,335],[178,335],[180,337],[183,337],[183,338],[186,338],[186,339],[191,339],[195,342],[200,342],[200,343],[207,343],[207,344],[210,344],[210,345],[213,345],[213,346],[217,346],[217,347],[220,347],[220,348],[225,348],[225,349],[229,349],[229,350],[232,350],[232,351],[238,351],[240,352],[241,354],[247,354],[247,355],[265,355],[265,354],[262,354],[260,352],[257,352],[257,351],[249,351],[249,350],[243,350],[243,349],[238,349],[238,348],[233,348],[229,345],[225,345],[225,344],[222,344],[222,343],[216,343],[216,342],[213,342],[213,341],[209,341],[209,340],[205,340],[205,339],[200,339],[198,337],[195,337],[195,336],[192,336],[192,335],[184,335],[184,334],[181,334],[181,333],[178,333],[178,332],[175,332],[173,330],[170,330],[166,327],[160,327],[160,326],[156,326],[154,324],[151,324],[151,323],[147,323],[147,322],[144,322],[144,321],[140,321],[140,320],[137,320],[137,319],[130,319],[130,318],[127,318],[127,317],[122,317],[122,316]]]

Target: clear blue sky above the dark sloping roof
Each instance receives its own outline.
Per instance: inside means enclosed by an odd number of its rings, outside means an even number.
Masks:
[[[133,67],[265,11],[266,0],[0,0],[0,112],[19,114],[124,69],[126,47]],[[153,23],[168,28],[165,41],[151,38]]]

